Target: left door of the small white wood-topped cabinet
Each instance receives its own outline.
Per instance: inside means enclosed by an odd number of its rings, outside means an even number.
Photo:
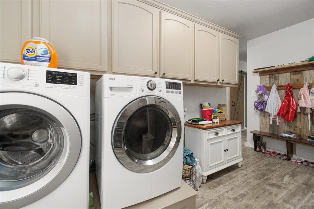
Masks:
[[[225,163],[225,137],[207,140],[207,170]]]

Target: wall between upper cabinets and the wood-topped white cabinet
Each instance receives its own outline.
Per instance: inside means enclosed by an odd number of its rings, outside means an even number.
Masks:
[[[210,102],[211,107],[217,108],[219,103],[226,103],[225,88],[199,87],[183,85],[183,103],[187,107],[187,115],[184,120],[190,118],[202,118],[200,104]]]

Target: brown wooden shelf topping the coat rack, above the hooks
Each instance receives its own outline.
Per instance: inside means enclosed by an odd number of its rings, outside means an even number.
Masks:
[[[272,74],[278,74],[278,73],[284,73],[284,72],[297,72],[297,71],[313,70],[313,69],[314,69],[314,61],[300,62],[300,63],[291,64],[291,65],[282,65],[278,67],[268,67],[268,68],[253,70],[252,72],[255,72],[255,73],[258,72],[259,76],[263,76],[263,75],[272,75]]]

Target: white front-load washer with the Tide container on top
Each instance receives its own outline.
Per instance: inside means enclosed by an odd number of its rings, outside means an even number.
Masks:
[[[0,63],[0,208],[88,208],[90,74]]]

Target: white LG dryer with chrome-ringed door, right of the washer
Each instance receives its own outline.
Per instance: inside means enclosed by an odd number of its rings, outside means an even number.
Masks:
[[[96,83],[96,176],[102,208],[181,185],[182,82],[103,75]]]

